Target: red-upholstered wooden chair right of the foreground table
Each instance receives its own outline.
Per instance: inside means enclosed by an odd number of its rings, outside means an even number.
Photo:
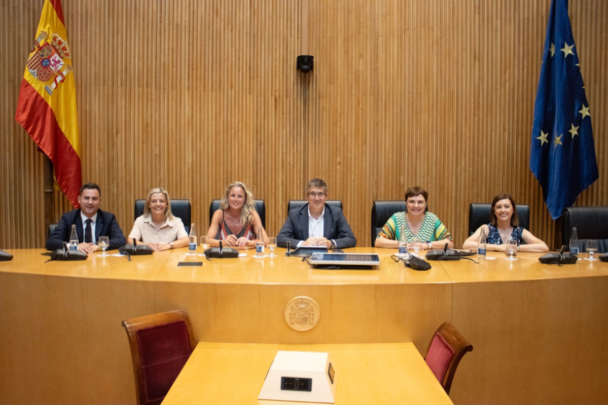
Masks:
[[[444,322],[430,339],[424,361],[449,395],[460,359],[473,346],[449,322]]]

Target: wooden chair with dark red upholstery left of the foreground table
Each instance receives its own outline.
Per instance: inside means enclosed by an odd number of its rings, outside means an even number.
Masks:
[[[122,321],[131,346],[137,403],[160,404],[196,346],[184,309]]]

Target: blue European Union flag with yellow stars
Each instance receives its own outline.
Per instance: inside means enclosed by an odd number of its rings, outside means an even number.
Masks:
[[[530,170],[554,220],[599,176],[567,0],[551,1],[534,103]]]

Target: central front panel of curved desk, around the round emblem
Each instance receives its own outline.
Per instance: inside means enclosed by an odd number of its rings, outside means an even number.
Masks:
[[[438,325],[451,317],[451,285],[231,285],[156,283],[162,310],[184,306],[195,337],[206,342],[372,343],[412,341],[426,350]],[[295,331],[285,305],[307,296],[319,323]]]

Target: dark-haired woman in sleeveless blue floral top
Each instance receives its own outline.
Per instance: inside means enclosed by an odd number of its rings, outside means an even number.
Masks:
[[[482,231],[486,234],[486,249],[488,251],[505,251],[506,242],[510,238],[517,239],[521,252],[548,252],[549,248],[539,238],[519,225],[517,208],[513,197],[508,194],[499,194],[492,201],[490,211],[491,223],[480,226],[463,243],[463,249],[477,249]]]

